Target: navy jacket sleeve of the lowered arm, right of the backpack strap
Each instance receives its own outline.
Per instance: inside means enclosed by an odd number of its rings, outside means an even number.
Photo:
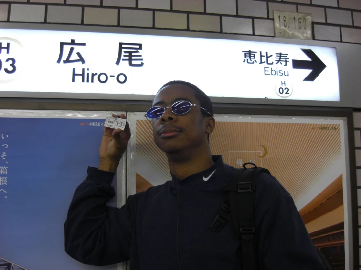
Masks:
[[[291,195],[281,193],[260,228],[262,270],[325,270]]]

